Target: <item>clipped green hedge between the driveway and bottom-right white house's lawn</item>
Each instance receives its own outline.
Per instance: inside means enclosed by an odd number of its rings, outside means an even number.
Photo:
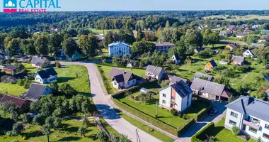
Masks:
[[[207,133],[211,130],[214,129],[214,122],[210,122],[210,124],[207,124],[205,128],[201,129],[195,135],[191,137],[191,142],[202,142],[205,139],[207,139]]]

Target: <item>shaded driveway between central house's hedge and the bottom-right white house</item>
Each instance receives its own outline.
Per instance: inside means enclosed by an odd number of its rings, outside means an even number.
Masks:
[[[193,124],[193,126],[190,126],[190,128],[185,131],[182,136],[176,139],[175,142],[190,142],[190,138],[208,123],[212,121],[216,124],[217,122],[222,120],[222,118],[226,114],[226,107],[224,107],[224,104],[222,103],[214,102],[214,108],[218,110],[217,114],[215,114],[214,116],[209,116],[208,114],[205,114],[204,118]]]

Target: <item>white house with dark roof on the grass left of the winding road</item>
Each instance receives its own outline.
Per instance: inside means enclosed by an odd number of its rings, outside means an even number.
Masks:
[[[35,81],[41,84],[57,82],[57,72],[54,68],[47,68],[35,73]]]

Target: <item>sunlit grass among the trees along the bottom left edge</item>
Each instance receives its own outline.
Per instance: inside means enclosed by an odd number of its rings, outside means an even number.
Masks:
[[[50,134],[50,141],[99,141],[96,139],[96,133],[98,133],[98,128],[93,126],[93,124],[86,128],[86,137],[79,136],[76,133],[81,126],[81,121],[67,120],[63,121],[63,128],[59,130],[51,129],[52,133]],[[0,136],[0,141],[22,141],[23,136],[27,138],[26,141],[47,141],[46,136],[38,132],[40,131],[40,126],[34,126],[32,124],[30,127],[23,131],[19,136]],[[37,136],[38,135],[38,136]]]

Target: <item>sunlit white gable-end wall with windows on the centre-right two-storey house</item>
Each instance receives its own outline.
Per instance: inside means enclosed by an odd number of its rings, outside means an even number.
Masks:
[[[163,97],[163,94],[166,94],[166,97]],[[163,100],[165,103],[163,103]],[[159,92],[159,106],[164,107],[166,109],[170,109],[171,107],[171,87],[163,89]]]

